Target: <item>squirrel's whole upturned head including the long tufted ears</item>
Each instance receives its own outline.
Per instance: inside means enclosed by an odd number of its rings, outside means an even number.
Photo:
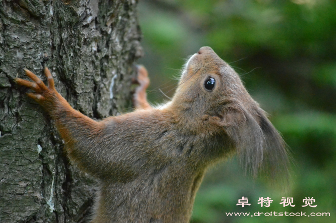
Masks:
[[[288,182],[286,144],[239,75],[211,47],[200,48],[186,63],[172,106],[190,130],[228,137],[223,153],[236,151],[253,176],[259,171]]]

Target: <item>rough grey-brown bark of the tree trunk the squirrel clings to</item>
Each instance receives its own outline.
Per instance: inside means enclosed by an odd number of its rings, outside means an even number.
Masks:
[[[87,221],[95,180],[71,165],[50,117],[13,78],[43,66],[93,118],[130,104],[135,0],[0,0],[0,221]]]

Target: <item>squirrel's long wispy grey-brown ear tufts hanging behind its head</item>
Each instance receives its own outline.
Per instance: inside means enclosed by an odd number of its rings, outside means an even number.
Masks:
[[[245,172],[253,177],[262,170],[263,175],[288,182],[288,156],[286,144],[271,124],[265,112],[257,107],[256,117],[245,109],[227,110],[220,117],[222,125],[235,147]]]

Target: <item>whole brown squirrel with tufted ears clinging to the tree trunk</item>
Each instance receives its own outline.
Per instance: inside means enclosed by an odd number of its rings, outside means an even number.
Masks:
[[[193,54],[175,95],[154,108],[146,99],[147,71],[138,69],[135,110],[95,121],[73,109],[25,69],[35,92],[55,120],[67,154],[99,181],[92,222],[189,222],[195,194],[207,168],[238,153],[245,171],[287,178],[286,144],[252,99],[239,75],[211,47]]]

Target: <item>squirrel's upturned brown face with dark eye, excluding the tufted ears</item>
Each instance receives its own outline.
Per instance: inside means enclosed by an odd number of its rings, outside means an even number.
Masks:
[[[173,101],[210,116],[221,116],[233,105],[248,110],[258,106],[235,70],[209,46],[202,47],[186,63]]]

